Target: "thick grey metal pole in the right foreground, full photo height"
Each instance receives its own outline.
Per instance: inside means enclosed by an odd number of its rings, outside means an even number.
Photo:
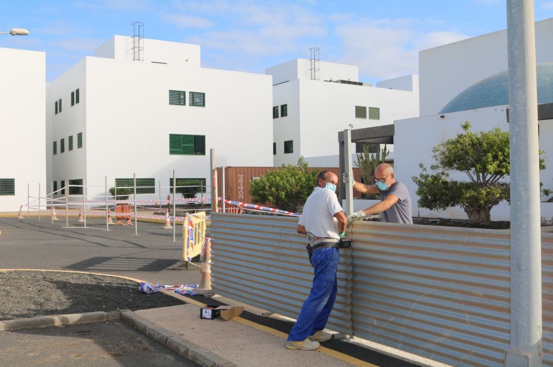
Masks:
[[[510,120],[510,349],[505,366],[541,366],[541,233],[534,2],[507,0]]]

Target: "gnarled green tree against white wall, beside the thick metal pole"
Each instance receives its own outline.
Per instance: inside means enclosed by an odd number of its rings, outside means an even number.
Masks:
[[[504,178],[510,173],[509,132],[495,127],[491,131],[471,132],[471,124],[461,125],[463,132],[439,143],[432,149],[436,164],[429,173],[422,172],[413,181],[418,186],[419,206],[430,210],[445,210],[461,206],[469,222],[489,225],[490,211],[500,201],[510,200],[510,185]],[[545,159],[539,159],[540,169]],[[468,181],[450,179],[450,172],[467,175]],[[549,195],[549,190],[542,190]]]

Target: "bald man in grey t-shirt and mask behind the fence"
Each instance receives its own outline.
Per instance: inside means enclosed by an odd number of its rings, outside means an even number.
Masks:
[[[347,173],[343,174],[342,180],[344,183],[349,182]],[[388,163],[379,164],[374,171],[374,180],[374,185],[352,180],[353,188],[357,191],[363,194],[380,194],[380,203],[348,215],[348,226],[353,220],[378,213],[382,213],[383,222],[413,224],[411,196],[405,185],[394,178],[394,168]]]

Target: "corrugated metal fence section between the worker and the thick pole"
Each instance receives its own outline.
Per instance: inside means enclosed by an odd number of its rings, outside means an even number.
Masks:
[[[502,366],[509,233],[354,222],[354,335],[451,365]]]

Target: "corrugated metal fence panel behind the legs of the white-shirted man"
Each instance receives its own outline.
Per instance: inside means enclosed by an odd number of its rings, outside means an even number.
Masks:
[[[216,294],[296,318],[313,269],[298,218],[213,213],[211,279]],[[327,327],[351,334],[351,249],[340,250],[338,295]]]

